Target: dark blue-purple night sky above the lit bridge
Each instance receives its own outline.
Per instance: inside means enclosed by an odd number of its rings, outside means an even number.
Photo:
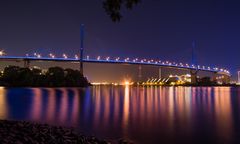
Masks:
[[[240,68],[240,2],[142,0],[114,23],[101,0],[1,0],[0,49],[74,55],[85,24],[85,54],[191,62],[196,41],[201,65]]]

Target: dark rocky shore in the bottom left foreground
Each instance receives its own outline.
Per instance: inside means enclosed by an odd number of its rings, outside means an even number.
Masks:
[[[0,120],[1,144],[109,144],[70,128],[22,121]],[[118,141],[117,143],[128,143]]]

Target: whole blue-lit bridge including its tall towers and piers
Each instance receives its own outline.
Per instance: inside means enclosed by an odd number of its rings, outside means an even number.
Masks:
[[[192,63],[195,65],[189,65],[189,64],[183,64],[183,63],[175,63],[175,62],[169,62],[169,61],[160,61],[160,60],[147,60],[147,59],[120,59],[117,58],[101,58],[98,56],[97,58],[90,58],[89,56],[84,58],[83,51],[84,51],[84,25],[81,25],[80,29],[80,54],[75,55],[74,58],[69,58],[66,54],[63,54],[61,58],[55,57],[54,54],[50,53],[48,57],[42,57],[38,53],[34,53],[34,55],[26,55],[23,57],[20,56],[7,56],[6,53],[3,50],[0,50],[0,61],[23,61],[25,67],[29,67],[31,61],[53,61],[53,62],[73,62],[73,63],[80,63],[80,73],[83,74],[83,63],[106,63],[106,64],[128,64],[128,65],[138,65],[139,66],[139,78],[141,77],[141,66],[142,65],[150,65],[150,66],[157,66],[159,67],[159,74],[161,73],[160,68],[166,67],[166,68],[175,68],[175,69],[183,69],[183,70],[190,70],[191,75],[191,83],[197,82],[197,73],[199,71],[206,71],[206,72],[212,72],[216,76],[216,74],[220,75],[226,75],[227,77],[230,77],[230,72],[223,68],[217,68],[217,67],[209,67],[209,66],[200,66],[196,65],[195,62],[195,55],[194,55],[194,49],[195,49],[195,42],[193,42],[193,49],[192,49]]]

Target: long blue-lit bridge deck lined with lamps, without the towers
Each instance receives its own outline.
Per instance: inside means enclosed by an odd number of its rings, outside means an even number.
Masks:
[[[73,63],[79,63],[81,60],[78,58],[78,56],[75,56],[75,58],[68,58],[65,54],[62,58],[56,58],[54,55],[50,54],[50,57],[41,57],[40,55],[36,56],[0,56],[0,61],[24,61],[25,66],[29,66],[30,61],[52,61],[52,62],[73,62]],[[152,66],[159,66],[159,67],[168,67],[168,68],[176,68],[176,69],[185,69],[185,70],[193,70],[193,71],[206,71],[206,72],[213,72],[218,74],[223,74],[230,76],[230,72],[223,68],[217,68],[217,67],[208,67],[208,66],[195,66],[195,65],[189,65],[189,64],[183,64],[183,63],[175,63],[175,62],[169,62],[169,61],[160,61],[160,60],[147,60],[147,59],[132,59],[125,58],[120,59],[115,58],[111,59],[110,57],[101,58],[98,56],[97,58],[87,58],[82,60],[84,63],[107,63],[107,64],[129,64],[129,65],[152,65]]]

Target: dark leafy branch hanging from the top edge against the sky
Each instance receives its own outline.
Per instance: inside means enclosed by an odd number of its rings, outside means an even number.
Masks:
[[[132,9],[139,2],[140,0],[104,0],[103,8],[112,21],[119,22],[122,18],[122,7],[125,6],[127,9]]]

